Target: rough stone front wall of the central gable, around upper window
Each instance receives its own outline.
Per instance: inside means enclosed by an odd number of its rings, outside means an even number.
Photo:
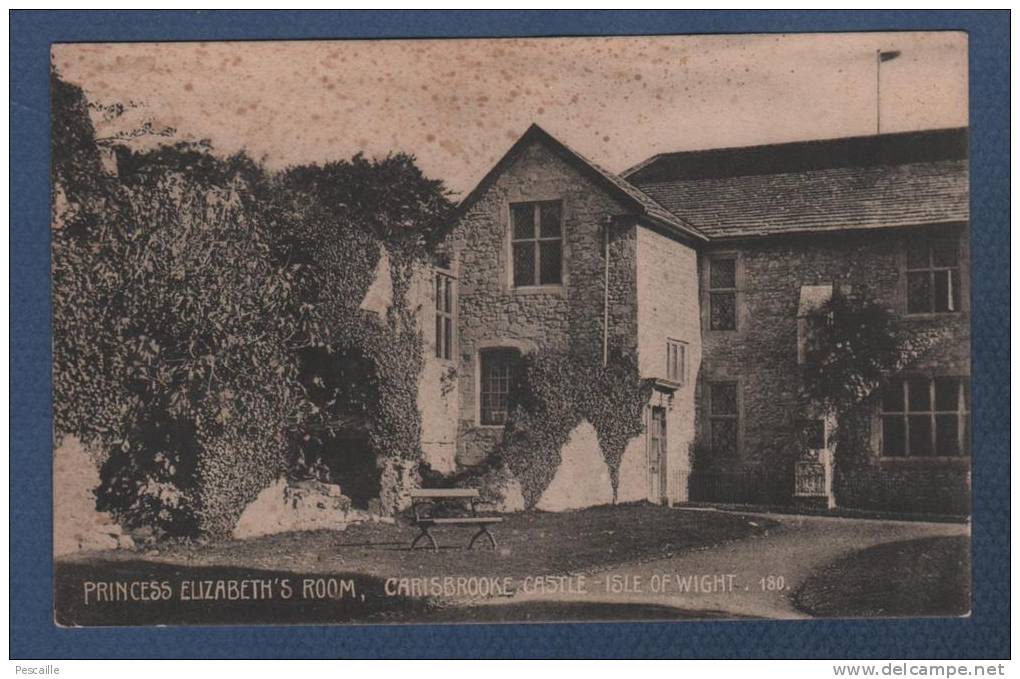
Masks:
[[[562,201],[563,284],[515,290],[509,206]],[[492,347],[577,350],[601,356],[605,258],[602,228],[624,208],[541,144],[522,150],[455,225],[448,239],[458,277],[457,461],[484,461],[503,427],[478,425],[478,351]],[[634,227],[616,226],[610,244],[609,340],[636,350]]]

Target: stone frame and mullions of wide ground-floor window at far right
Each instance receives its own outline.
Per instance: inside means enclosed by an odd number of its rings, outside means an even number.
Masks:
[[[896,464],[946,464],[946,463],[965,463],[969,464],[971,456],[973,455],[973,440],[971,434],[967,435],[968,431],[972,431],[973,425],[970,420],[973,417],[972,405],[971,405],[971,389],[970,382],[971,377],[969,374],[962,374],[958,372],[941,373],[941,372],[907,372],[898,375],[895,378],[897,381],[902,380],[904,389],[903,391],[903,411],[884,411],[882,403],[882,394],[876,395],[876,402],[873,410],[873,422],[874,426],[872,431],[874,432],[872,447],[875,451],[875,455],[883,464],[896,463]],[[923,379],[928,383],[928,410],[917,410],[911,411],[909,405],[909,382],[910,380]],[[955,379],[959,382],[958,384],[958,397],[957,397],[957,410],[956,411],[939,411],[936,410],[935,404],[935,394],[934,394],[934,382],[936,379]],[[953,456],[939,456],[939,455],[910,455],[909,454],[909,442],[908,451],[906,455],[887,456],[884,452],[884,419],[886,417],[902,417],[904,419],[904,434],[909,438],[910,423],[909,417],[911,414],[917,415],[928,415],[931,420],[931,437],[934,442],[934,437],[937,435],[935,418],[938,415],[956,415],[957,420],[957,435],[960,442],[960,455]],[[934,452],[934,451],[933,451]]]

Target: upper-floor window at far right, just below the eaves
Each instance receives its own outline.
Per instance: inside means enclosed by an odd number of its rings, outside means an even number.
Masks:
[[[907,241],[907,313],[960,311],[960,239],[924,233]]]

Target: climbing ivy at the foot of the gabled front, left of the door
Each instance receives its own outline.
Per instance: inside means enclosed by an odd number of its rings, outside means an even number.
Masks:
[[[588,420],[598,433],[615,499],[623,453],[627,441],[644,431],[651,393],[651,380],[641,378],[629,354],[613,355],[605,366],[576,353],[529,354],[512,389],[515,405],[496,457],[533,506],[552,482],[570,432]]]

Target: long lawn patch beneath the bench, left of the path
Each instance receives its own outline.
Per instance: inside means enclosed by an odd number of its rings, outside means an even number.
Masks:
[[[527,575],[577,573],[669,557],[748,537],[775,525],[716,512],[687,512],[649,504],[594,507],[576,512],[522,512],[493,527],[499,542],[468,551],[473,528],[435,531],[440,551],[408,546],[413,526],[363,523],[346,531],[280,533],[206,545],[175,545],[161,560],[191,565],[257,567],[311,573],[354,572],[379,577],[414,575]],[[116,553],[111,553],[115,558]]]

